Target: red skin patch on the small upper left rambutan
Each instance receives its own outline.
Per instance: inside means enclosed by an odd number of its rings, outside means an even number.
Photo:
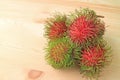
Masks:
[[[50,39],[60,38],[64,36],[64,33],[67,31],[67,27],[65,22],[54,22],[52,26],[50,26],[48,36]]]

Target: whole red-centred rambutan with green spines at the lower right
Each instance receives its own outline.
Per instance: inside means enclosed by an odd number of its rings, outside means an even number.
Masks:
[[[103,67],[111,61],[109,51],[104,42],[82,49],[78,60],[80,72],[86,77],[98,78]]]

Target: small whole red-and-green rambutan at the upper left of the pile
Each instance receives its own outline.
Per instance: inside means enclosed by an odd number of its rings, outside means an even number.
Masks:
[[[46,21],[46,36],[50,39],[57,39],[57,38],[62,38],[65,36],[65,33],[67,31],[67,26],[66,26],[66,16],[57,14],[54,15],[52,18],[49,18]]]

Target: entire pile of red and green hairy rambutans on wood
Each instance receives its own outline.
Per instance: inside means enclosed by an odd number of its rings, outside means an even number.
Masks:
[[[56,69],[77,66],[84,76],[98,79],[103,67],[111,61],[101,18],[88,8],[48,18],[45,24],[47,62]]]

